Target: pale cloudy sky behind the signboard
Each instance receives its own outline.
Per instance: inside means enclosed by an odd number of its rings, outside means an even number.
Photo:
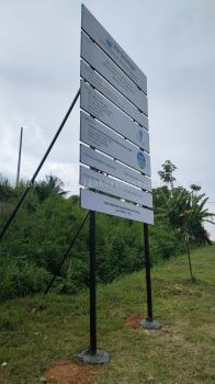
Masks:
[[[148,77],[154,185],[170,159],[215,211],[215,0],[86,0]],[[78,0],[0,0],[0,173],[31,178],[79,88]],[[38,178],[78,193],[79,103]],[[215,230],[210,227],[212,233]]]

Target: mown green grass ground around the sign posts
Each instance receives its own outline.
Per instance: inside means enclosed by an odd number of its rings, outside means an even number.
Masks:
[[[98,290],[99,348],[111,353],[95,384],[215,383],[215,246],[152,269],[158,331],[124,326],[146,314],[144,271]],[[48,295],[0,306],[1,384],[35,384],[58,359],[72,359],[89,345],[89,295]]]

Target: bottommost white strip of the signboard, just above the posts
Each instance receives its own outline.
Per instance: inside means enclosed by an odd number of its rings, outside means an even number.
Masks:
[[[143,206],[126,203],[105,194],[82,190],[80,193],[81,207],[106,213],[109,215],[129,218],[136,222],[154,224],[154,212]]]

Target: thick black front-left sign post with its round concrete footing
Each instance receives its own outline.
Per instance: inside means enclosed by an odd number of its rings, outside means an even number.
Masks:
[[[106,364],[110,355],[104,350],[97,349],[97,237],[95,211],[90,211],[90,347],[77,354],[84,364]]]

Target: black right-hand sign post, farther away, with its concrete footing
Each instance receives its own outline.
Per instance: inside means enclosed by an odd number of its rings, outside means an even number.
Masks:
[[[162,325],[154,320],[152,316],[152,294],[151,294],[151,276],[150,276],[150,252],[149,252],[149,235],[148,224],[144,223],[144,248],[145,248],[145,268],[146,268],[146,294],[147,294],[147,317],[140,320],[140,327],[146,329],[160,329]]]

